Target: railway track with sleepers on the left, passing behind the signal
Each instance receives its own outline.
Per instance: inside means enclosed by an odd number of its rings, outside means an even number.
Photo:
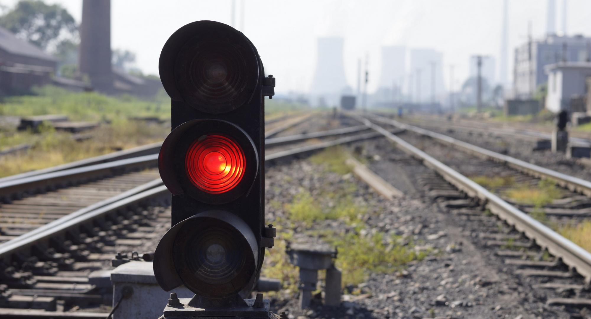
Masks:
[[[358,126],[355,129],[343,128],[322,133],[309,132],[300,136],[284,136],[271,143],[279,146],[269,147],[265,161],[277,161],[332,145],[379,136],[375,132],[367,132],[367,129],[366,126],[365,129]],[[310,137],[313,138],[313,143],[306,144],[305,141],[310,140]],[[321,137],[323,140],[319,142],[318,139]],[[290,146],[285,147],[284,144],[288,142],[291,142]],[[144,158],[145,162],[151,165],[156,162],[155,155],[147,155]],[[135,160],[137,159],[124,161]],[[120,163],[100,165],[116,167],[117,164]],[[93,171],[93,168],[96,167],[74,170],[87,172]],[[51,174],[65,176],[72,174],[72,170]],[[143,179],[139,178],[138,174],[141,174]],[[119,255],[119,258],[140,258],[139,255],[129,254],[133,251],[142,252],[142,249],[153,249],[146,248],[145,243],[157,240],[155,236],[160,233],[158,230],[168,227],[170,193],[158,178],[154,179],[157,174],[155,168],[150,168],[112,177],[119,180],[84,183],[82,188],[87,190],[96,187],[92,183],[120,187],[111,189],[111,193],[106,193],[105,190],[105,196],[116,194],[106,200],[97,194],[93,198],[100,204],[95,203],[91,206],[82,207],[88,204],[90,199],[83,201],[76,198],[77,193],[67,193],[82,191],[80,185],[72,190],[63,188],[39,194],[38,196],[46,196],[47,199],[53,198],[55,206],[67,202],[72,205],[71,210],[78,210],[64,214],[63,207],[54,207],[54,211],[60,211],[60,214],[53,214],[51,218],[43,217],[47,216],[44,212],[37,211],[35,215],[34,211],[30,211],[32,220],[41,219],[47,224],[16,223],[15,220],[15,223],[10,225],[22,228],[18,229],[21,233],[12,233],[13,236],[20,236],[7,237],[6,239],[11,240],[0,244],[0,269],[4,269],[0,274],[0,318],[105,318],[105,311],[108,309],[106,306],[111,304],[110,284],[102,287],[96,282],[100,282],[99,279],[89,278],[89,275],[92,271],[108,269],[117,252],[126,252]],[[43,181],[44,177],[47,176],[37,175],[28,178],[28,181]],[[27,181],[27,178],[7,183],[18,184],[23,183],[23,180]],[[141,185],[138,187],[134,183]],[[131,188],[122,189],[119,184]],[[30,190],[31,187],[22,189]],[[59,192],[61,193],[58,194]],[[64,202],[61,200],[61,194],[70,194],[74,198]],[[21,200],[31,201],[36,196],[24,196],[22,199],[18,197],[17,195],[9,205],[15,205],[15,202],[18,204]],[[43,203],[39,198],[35,200],[35,203]],[[18,216],[18,213],[14,216]],[[20,224],[27,226],[19,226]],[[149,256],[145,255],[145,258]],[[72,313],[73,305],[83,308],[92,306],[92,311]]]

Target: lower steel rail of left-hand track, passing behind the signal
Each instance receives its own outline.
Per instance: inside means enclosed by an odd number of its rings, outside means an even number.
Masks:
[[[272,159],[278,158],[285,158],[291,155],[302,154],[310,151],[315,151],[317,149],[332,147],[338,144],[361,141],[362,139],[375,138],[378,136],[380,136],[379,133],[370,132],[355,136],[348,136],[346,138],[336,139],[335,141],[306,145],[304,147],[298,147],[287,151],[265,155],[265,161],[271,161]],[[143,190],[142,188],[149,189]],[[76,227],[79,224],[86,223],[92,219],[103,216],[105,214],[121,210],[122,208],[129,206],[131,204],[147,200],[150,197],[170,194],[168,193],[167,188],[165,187],[165,185],[163,185],[162,180],[160,179],[133,188],[132,190],[127,191],[126,193],[128,193],[126,194],[127,197],[125,197],[124,193],[122,193],[118,196],[108,198],[107,200],[102,201],[101,203],[103,204],[99,207],[95,207],[94,209],[81,209],[78,211],[74,211],[74,213],[68,214],[66,216],[61,217],[60,219],[54,220],[53,222],[50,222],[45,226],[41,226],[38,229],[31,230],[31,232],[27,232],[21,236],[18,236],[15,239],[0,244],[0,259],[7,258],[7,256],[9,256],[11,253],[16,252],[17,250],[28,248],[37,243],[43,242],[44,240],[47,240],[52,236],[59,235],[60,233],[66,232],[67,230],[72,229],[73,227]],[[99,203],[96,203],[95,205],[98,206]]]

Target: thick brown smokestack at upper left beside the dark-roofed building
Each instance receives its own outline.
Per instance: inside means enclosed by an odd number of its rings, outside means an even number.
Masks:
[[[83,0],[80,24],[80,73],[100,92],[113,92],[111,69],[111,0]]]

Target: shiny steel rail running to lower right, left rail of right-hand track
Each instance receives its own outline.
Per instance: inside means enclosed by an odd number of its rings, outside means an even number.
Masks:
[[[534,240],[541,248],[545,248],[554,256],[561,258],[571,269],[576,270],[580,275],[584,276],[587,284],[591,283],[591,253],[533,219],[528,214],[517,209],[517,207],[502,200],[501,197],[486,190],[475,181],[454,171],[449,166],[437,161],[437,159],[414,147],[400,137],[391,134],[381,126],[375,125],[365,118],[359,117],[359,120],[371,124],[372,129],[394,142],[402,151],[419,159],[427,167],[433,168],[433,170],[438,172],[446,181],[449,181],[449,183],[459,188],[459,190],[464,191],[468,196],[479,198],[485,202],[486,207],[488,207],[493,214],[496,214],[520,232],[525,233],[526,236]],[[415,131],[410,125],[402,127],[410,131]]]

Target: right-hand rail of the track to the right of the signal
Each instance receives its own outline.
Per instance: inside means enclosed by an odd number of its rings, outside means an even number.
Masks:
[[[398,128],[407,129],[408,131],[415,132],[420,135],[429,136],[430,138],[437,139],[438,141],[463,149],[464,151],[478,155],[479,157],[491,159],[495,162],[501,162],[505,165],[508,165],[509,167],[517,169],[518,171],[525,172],[526,174],[538,178],[552,180],[556,182],[558,185],[561,185],[562,187],[569,188],[572,191],[578,191],[579,193],[591,197],[591,182],[583,180],[582,178],[562,174],[561,172],[540,167],[538,165],[522,161],[521,159],[510,157],[508,155],[499,154],[497,152],[490,151],[489,149],[477,147],[476,145],[459,141],[457,139],[452,138],[451,136],[427,131],[426,129],[417,128],[413,125],[400,123],[393,119],[388,119],[382,116],[375,115],[371,116],[371,118],[376,122],[386,123],[389,125],[396,126]]]

